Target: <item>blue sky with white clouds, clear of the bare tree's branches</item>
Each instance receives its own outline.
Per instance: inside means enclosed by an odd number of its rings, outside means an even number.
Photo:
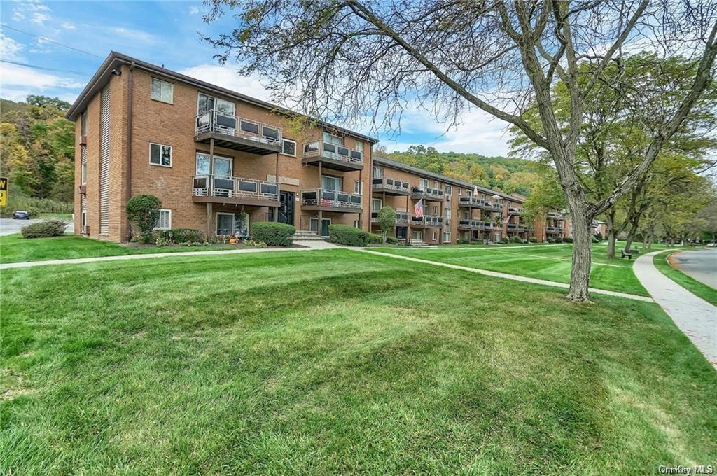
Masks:
[[[5,61],[0,63],[0,95],[24,100],[29,94],[41,94],[72,103],[107,54],[115,50],[271,100],[257,78],[239,77],[235,65],[220,67],[213,59],[212,47],[197,32],[229,32],[232,18],[206,24],[201,20],[205,10],[201,1],[2,1],[0,18],[7,27],[0,27]],[[421,143],[439,151],[507,153],[504,123],[478,110],[466,113],[462,120],[458,128],[446,132],[445,125],[437,124],[429,114],[414,111],[404,115],[398,135],[346,126],[380,138],[389,151]]]

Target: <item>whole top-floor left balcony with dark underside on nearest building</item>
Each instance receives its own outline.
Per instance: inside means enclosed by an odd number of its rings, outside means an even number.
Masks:
[[[194,141],[214,146],[266,156],[282,151],[282,132],[275,125],[208,110],[194,120]]]

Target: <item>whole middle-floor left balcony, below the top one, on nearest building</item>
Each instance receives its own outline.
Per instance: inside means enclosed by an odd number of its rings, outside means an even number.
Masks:
[[[195,176],[191,194],[196,203],[279,206],[279,184],[252,178]]]

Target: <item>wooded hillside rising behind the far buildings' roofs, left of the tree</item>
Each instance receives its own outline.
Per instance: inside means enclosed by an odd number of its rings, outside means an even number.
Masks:
[[[538,164],[522,158],[439,152],[433,147],[424,146],[410,146],[407,151],[390,153],[379,146],[375,154],[506,194],[529,196],[539,178]]]

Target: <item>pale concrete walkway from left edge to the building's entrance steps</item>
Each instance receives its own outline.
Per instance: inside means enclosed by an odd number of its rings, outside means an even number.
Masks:
[[[247,254],[247,253],[270,253],[270,252],[288,252],[288,251],[311,251],[312,249],[331,249],[338,248],[336,244],[306,241],[295,242],[304,248],[248,248],[248,249],[217,249],[214,251],[187,251],[176,253],[148,253],[148,254],[120,254],[119,256],[99,256],[93,258],[72,258],[71,260],[45,260],[45,261],[27,261],[20,263],[5,263],[0,265],[0,270],[9,270],[11,268],[35,267],[49,265],[82,265],[85,263],[95,263],[103,261],[127,261],[127,260],[149,260],[153,258],[171,258],[186,256],[218,256],[220,254]]]

